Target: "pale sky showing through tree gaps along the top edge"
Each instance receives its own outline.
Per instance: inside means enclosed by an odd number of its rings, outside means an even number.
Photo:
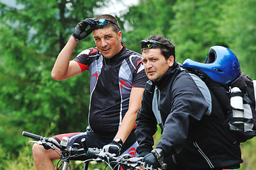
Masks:
[[[53,0],[55,1],[55,0]],[[138,4],[139,0],[110,0],[108,6],[96,10],[96,15],[99,14],[112,14],[119,16],[120,13],[128,11],[129,6]],[[7,4],[9,6],[16,6],[16,0],[0,0],[1,3]],[[20,7],[20,6],[17,6]]]

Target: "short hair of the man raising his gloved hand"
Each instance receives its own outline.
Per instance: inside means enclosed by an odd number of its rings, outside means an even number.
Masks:
[[[96,21],[99,21],[100,19],[106,19],[107,21],[110,21],[110,22],[108,22],[106,25],[103,25],[103,26],[99,26],[99,24],[96,24],[95,30],[112,27],[114,32],[118,33],[120,31],[120,26],[116,17],[111,16],[109,14],[103,14],[95,18]]]

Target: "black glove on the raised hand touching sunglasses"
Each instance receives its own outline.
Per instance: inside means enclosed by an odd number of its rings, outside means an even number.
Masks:
[[[88,30],[85,30],[89,26]],[[87,18],[85,20],[77,23],[76,28],[74,28],[74,32],[72,36],[75,40],[79,41],[86,38],[96,27],[96,21],[93,18]]]

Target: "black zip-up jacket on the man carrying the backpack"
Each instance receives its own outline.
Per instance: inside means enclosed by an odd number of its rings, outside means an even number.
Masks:
[[[157,142],[164,157],[183,169],[234,169],[243,162],[240,144],[228,129],[230,104],[226,89],[212,84],[211,115],[206,115],[208,104],[188,72],[182,72],[174,62],[160,81],[153,82],[160,90],[162,137]],[[142,107],[136,120],[138,154],[150,152],[154,145],[152,135],[157,120],[152,111],[153,93],[145,90]]]

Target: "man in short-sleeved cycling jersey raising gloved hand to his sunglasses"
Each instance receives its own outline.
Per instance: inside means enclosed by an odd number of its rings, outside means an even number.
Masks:
[[[91,32],[96,47],[82,51],[70,61],[79,40]],[[121,38],[118,21],[111,15],[87,18],[74,28],[57,57],[52,79],[61,81],[89,70],[89,128],[86,132],[56,135],[53,138],[57,142],[66,136],[71,146],[85,137],[88,147],[103,147],[115,154],[126,151],[136,156],[135,119],[148,78],[141,55],[128,50]],[[35,169],[55,169],[52,159],[60,159],[52,149],[45,150],[40,145],[33,146],[33,157]]]

